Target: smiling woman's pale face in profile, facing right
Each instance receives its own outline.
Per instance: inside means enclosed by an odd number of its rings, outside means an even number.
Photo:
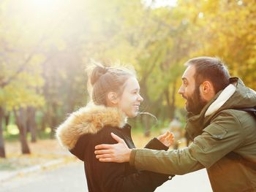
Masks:
[[[138,115],[140,102],[143,98],[140,96],[140,85],[135,77],[129,77],[124,83],[124,91],[118,99],[118,108],[122,110],[127,117],[134,118]]]

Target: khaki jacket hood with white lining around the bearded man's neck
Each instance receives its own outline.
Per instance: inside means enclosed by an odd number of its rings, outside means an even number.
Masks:
[[[211,119],[220,111],[256,106],[256,92],[247,88],[238,77],[230,78],[230,85],[219,91],[214,99],[206,104],[199,115],[187,115],[186,129],[190,137],[201,134]]]

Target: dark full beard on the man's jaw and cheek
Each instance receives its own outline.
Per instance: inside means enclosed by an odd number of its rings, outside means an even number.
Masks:
[[[199,85],[195,85],[195,91],[191,96],[187,97],[186,110],[192,112],[194,115],[200,114],[203,107],[205,107],[207,101],[200,96]]]

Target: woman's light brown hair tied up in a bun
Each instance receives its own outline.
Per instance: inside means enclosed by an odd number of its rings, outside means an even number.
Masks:
[[[91,86],[89,94],[94,104],[107,106],[107,97],[109,92],[118,93],[118,96],[124,91],[124,83],[129,77],[136,77],[134,69],[128,69],[124,66],[103,66],[92,62],[87,67],[89,75],[88,87]],[[89,88],[90,89],[90,88]]]

